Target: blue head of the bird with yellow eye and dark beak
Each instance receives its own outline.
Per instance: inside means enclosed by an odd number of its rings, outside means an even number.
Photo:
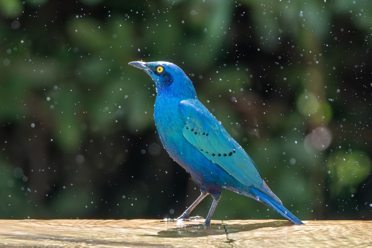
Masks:
[[[196,97],[195,89],[191,80],[177,65],[170,62],[129,62],[129,65],[144,70],[154,80],[157,92],[170,92],[180,97],[189,95]]]

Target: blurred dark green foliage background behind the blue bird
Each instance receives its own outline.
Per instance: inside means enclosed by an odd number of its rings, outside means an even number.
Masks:
[[[368,1],[0,1],[0,218],[176,218],[155,133],[169,61],[300,219],[372,219]],[[207,197],[193,211],[206,216]],[[214,219],[275,219],[223,191]]]

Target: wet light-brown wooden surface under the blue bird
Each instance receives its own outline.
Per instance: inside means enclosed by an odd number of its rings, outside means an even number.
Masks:
[[[0,247],[372,247],[372,221],[0,220]]]

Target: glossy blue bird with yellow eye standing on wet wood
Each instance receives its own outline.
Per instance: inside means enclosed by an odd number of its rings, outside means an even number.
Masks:
[[[154,120],[160,140],[201,191],[176,220],[190,219],[192,210],[209,194],[213,202],[203,224],[210,225],[222,189],[227,189],[272,207],[296,225],[304,224],[283,206],[249,155],[198,100],[192,81],[180,67],[165,61],[128,64],[154,81]]]

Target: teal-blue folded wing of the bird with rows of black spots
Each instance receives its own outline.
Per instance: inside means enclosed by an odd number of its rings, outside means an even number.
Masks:
[[[199,100],[183,100],[179,106],[185,117],[183,136],[187,141],[240,183],[259,187],[270,194],[271,190],[248,154]]]

